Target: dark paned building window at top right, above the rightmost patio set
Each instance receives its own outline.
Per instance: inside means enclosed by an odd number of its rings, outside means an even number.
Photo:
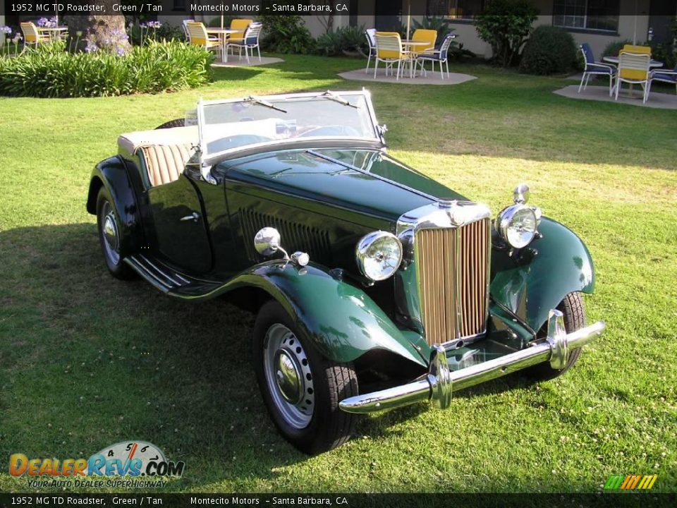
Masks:
[[[618,32],[618,0],[554,0],[552,24]]]

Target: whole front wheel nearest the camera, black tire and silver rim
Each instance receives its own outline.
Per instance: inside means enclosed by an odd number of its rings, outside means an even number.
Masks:
[[[261,394],[285,439],[307,454],[346,442],[355,417],[338,402],[358,394],[353,365],[323,358],[276,301],[262,306],[253,339]]]

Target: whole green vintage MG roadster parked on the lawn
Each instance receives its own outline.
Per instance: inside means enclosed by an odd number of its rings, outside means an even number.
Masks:
[[[526,186],[492,219],[389,156],[368,92],[201,101],[189,118],[121,135],[87,211],[114,277],[256,313],[264,403],[304,452],[345,442],[359,413],[561,375],[603,332],[585,323],[578,236]]]

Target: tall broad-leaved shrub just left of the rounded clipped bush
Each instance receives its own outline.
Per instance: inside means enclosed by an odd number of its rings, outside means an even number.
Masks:
[[[492,0],[475,16],[477,34],[491,45],[496,63],[504,67],[515,63],[537,14],[528,0]]]

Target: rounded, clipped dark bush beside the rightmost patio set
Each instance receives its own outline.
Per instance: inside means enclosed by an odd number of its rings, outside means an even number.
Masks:
[[[575,65],[576,45],[571,34],[562,28],[542,25],[532,32],[524,47],[520,72],[562,74]]]

